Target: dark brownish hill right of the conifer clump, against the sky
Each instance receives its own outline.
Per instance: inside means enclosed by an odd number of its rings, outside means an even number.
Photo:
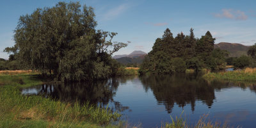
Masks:
[[[230,57],[239,57],[242,55],[246,55],[250,46],[246,46],[243,44],[236,44],[236,43],[227,43],[227,42],[220,42],[219,44],[214,44],[214,49],[220,48],[221,50],[227,50],[230,52]]]

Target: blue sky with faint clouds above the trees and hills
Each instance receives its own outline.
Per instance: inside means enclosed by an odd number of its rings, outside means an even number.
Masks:
[[[52,7],[58,2],[57,0],[1,0],[0,58],[8,59],[9,55],[3,50],[15,44],[13,31],[21,15],[31,14],[36,8]],[[166,28],[172,31],[173,36],[180,32],[189,35],[189,29],[193,28],[198,38],[210,31],[216,38],[215,44],[256,43],[255,0],[81,0],[79,2],[94,8],[95,20],[98,24],[96,29],[118,33],[113,41],[130,42],[127,47],[115,54],[129,54],[135,50],[151,51],[156,38],[161,37]]]

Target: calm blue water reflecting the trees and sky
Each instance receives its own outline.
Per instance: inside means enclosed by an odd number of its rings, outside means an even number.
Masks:
[[[213,122],[255,127],[256,84],[205,81],[200,75],[129,76],[94,83],[44,84],[24,88],[64,102],[85,102],[121,111],[130,125],[160,127],[184,111],[191,125],[209,114]]]

